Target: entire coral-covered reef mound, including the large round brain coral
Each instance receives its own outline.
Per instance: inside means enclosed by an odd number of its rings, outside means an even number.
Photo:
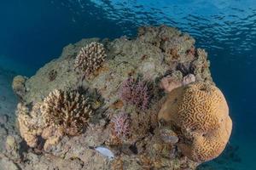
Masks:
[[[15,77],[20,136],[33,148],[22,154],[37,150],[40,156],[26,161],[29,165],[16,161],[19,166],[36,169],[34,164],[47,162],[42,169],[54,169],[51,161],[64,159],[73,162],[65,164],[67,169],[195,169],[222,153],[232,130],[229,108],[212,82],[207,53],[194,49],[192,37],[167,26],[142,27],[135,39],[106,43],[105,50],[102,43],[84,39],[34,77]],[[191,48],[193,56],[187,53]],[[76,51],[71,55],[69,49]],[[190,69],[184,74],[167,58]],[[134,78],[146,74],[141,68],[148,63],[150,90],[142,78]],[[107,69],[93,74],[102,65]],[[91,77],[83,79],[84,86],[104,102],[73,89],[81,78],[77,71]]]

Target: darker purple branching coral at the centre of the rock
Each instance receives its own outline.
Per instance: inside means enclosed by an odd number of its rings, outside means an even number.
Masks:
[[[146,82],[129,77],[120,87],[120,98],[127,104],[136,105],[139,109],[147,109],[150,99]]]

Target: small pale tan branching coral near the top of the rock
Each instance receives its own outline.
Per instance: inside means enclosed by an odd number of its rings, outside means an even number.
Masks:
[[[105,57],[103,45],[98,42],[91,42],[79,51],[75,59],[75,68],[83,71],[88,76],[101,67]]]

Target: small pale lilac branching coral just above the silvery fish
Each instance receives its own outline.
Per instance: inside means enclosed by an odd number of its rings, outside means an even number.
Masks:
[[[113,116],[111,120],[113,123],[113,133],[119,139],[125,139],[130,134],[130,127],[131,127],[131,119],[127,113],[122,112],[119,115]]]

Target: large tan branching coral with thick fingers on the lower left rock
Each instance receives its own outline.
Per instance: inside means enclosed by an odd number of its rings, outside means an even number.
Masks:
[[[81,133],[92,114],[84,95],[56,89],[44,99],[41,112],[47,125],[60,127],[67,135]]]

